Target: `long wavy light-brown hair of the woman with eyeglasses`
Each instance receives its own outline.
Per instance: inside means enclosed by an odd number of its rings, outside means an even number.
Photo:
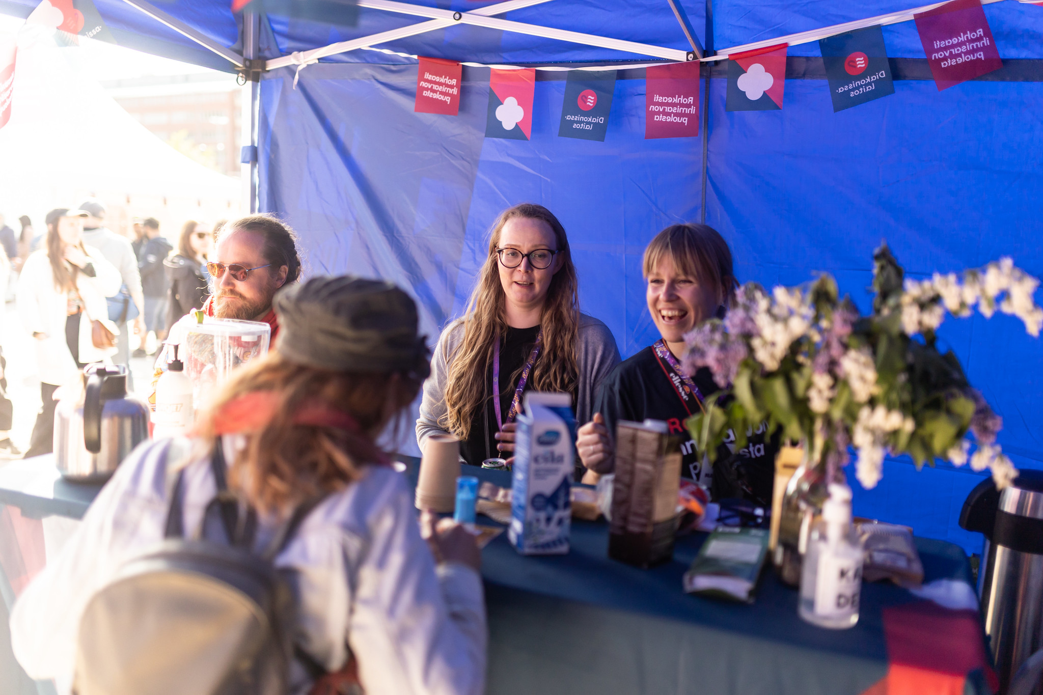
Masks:
[[[522,203],[500,214],[489,238],[489,255],[479,273],[478,283],[467,301],[462,319],[463,341],[450,362],[445,383],[445,416],[439,424],[454,435],[466,439],[478,408],[492,398],[488,388],[488,365],[492,361],[492,344],[507,334],[504,319],[506,297],[500,283],[500,234],[508,220],[526,218],[542,220],[557,241],[563,263],[551,278],[539,324],[543,331],[543,347],[533,365],[529,383],[534,391],[575,391],[579,380],[579,281],[573,265],[565,228],[558,218],[542,205]],[[450,355],[446,355],[448,357]],[[511,376],[511,381],[517,374]]]

